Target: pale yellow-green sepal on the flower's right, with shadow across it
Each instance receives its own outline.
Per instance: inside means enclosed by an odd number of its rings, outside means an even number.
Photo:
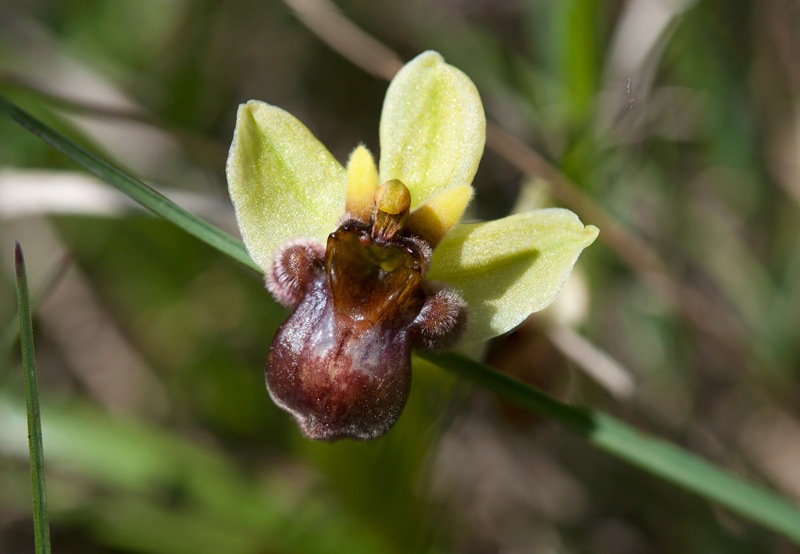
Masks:
[[[459,225],[434,251],[429,276],[467,302],[465,340],[485,340],[550,304],[597,234],[561,208]]]

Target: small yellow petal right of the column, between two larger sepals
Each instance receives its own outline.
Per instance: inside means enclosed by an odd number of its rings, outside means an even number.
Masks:
[[[469,185],[455,185],[430,198],[425,204],[411,212],[408,230],[436,248],[439,241],[452,229],[472,199],[473,189]]]

